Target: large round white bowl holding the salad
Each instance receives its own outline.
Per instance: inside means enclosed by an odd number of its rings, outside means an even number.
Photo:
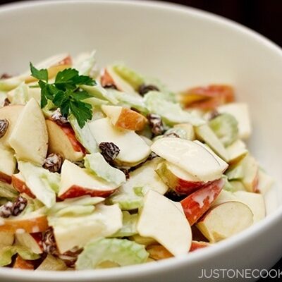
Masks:
[[[121,269],[46,273],[3,268],[1,281],[196,281],[202,269],[267,269],[281,257],[282,51],[275,44],[218,16],[153,1],[2,6],[0,38],[0,73],[18,73],[29,61],[64,51],[97,49],[101,66],[123,60],[176,90],[231,83],[238,99],[250,104],[252,153],[276,179],[266,219],[214,247]]]

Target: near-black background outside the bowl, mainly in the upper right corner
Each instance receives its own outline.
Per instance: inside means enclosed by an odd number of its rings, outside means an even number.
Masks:
[[[15,1],[0,0],[0,4],[9,2]],[[170,2],[200,8],[235,20],[282,47],[282,0],[176,0]],[[273,268],[282,270],[282,259]]]

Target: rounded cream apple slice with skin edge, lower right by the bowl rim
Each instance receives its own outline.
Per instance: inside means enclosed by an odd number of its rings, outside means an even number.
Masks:
[[[225,202],[212,208],[197,223],[211,243],[216,243],[252,226],[253,214],[243,202]]]

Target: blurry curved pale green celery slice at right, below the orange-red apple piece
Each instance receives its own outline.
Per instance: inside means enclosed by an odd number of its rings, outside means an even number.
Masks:
[[[231,114],[221,114],[209,121],[209,126],[225,147],[238,139],[238,121]]]

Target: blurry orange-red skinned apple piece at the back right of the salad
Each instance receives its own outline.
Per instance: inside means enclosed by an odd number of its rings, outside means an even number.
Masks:
[[[187,108],[216,109],[221,104],[234,101],[234,91],[229,85],[195,87],[180,93],[180,100]]]

